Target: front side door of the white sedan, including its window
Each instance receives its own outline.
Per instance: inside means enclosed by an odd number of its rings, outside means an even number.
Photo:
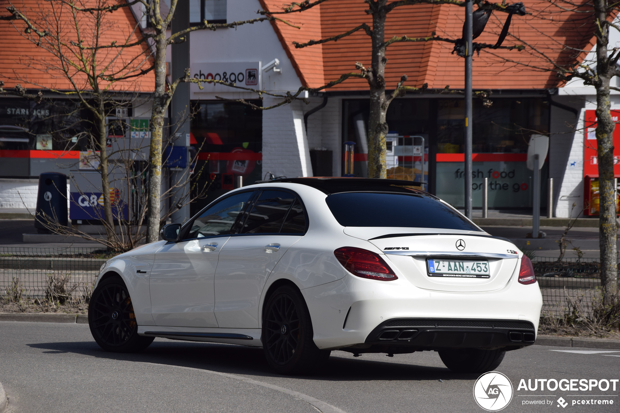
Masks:
[[[222,246],[255,191],[232,194],[185,225],[157,251],[149,288],[157,326],[217,327],[213,277]]]

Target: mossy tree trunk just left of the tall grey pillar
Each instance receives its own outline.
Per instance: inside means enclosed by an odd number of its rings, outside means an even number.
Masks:
[[[168,108],[169,93],[166,90],[166,32],[154,39],[155,52],[155,93],[151,115],[151,149],[149,152],[149,191],[146,242],[159,240],[161,225],[161,150],[164,137],[164,115]]]

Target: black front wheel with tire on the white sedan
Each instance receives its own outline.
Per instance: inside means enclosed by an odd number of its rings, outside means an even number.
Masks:
[[[154,340],[138,335],[131,297],[118,276],[109,277],[97,286],[89,303],[88,324],[97,344],[110,352],[136,352]]]

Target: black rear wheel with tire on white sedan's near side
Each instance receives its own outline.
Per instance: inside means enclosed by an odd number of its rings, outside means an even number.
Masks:
[[[312,337],[312,320],[299,290],[279,287],[263,310],[262,342],[269,367],[283,375],[311,373],[329,359]]]

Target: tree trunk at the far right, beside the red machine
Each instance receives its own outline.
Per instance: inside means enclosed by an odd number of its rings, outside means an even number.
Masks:
[[[606,19],[605,0],[594,2],[598,20]],[[604,26],[603,26],[604,27]],[[616,123],[611,119],[611,100],[609,98],[609,76],[615,67],[609,67],[609,32],[606,28],[596,36],[596,67],[598,76],[596,87],[596,146],[598,147],[598,186],[600,219],[601,287],[603,300],[609,304],[618,288],[618,248],[616,248],[616,188],[614,188],[614,141]]]

